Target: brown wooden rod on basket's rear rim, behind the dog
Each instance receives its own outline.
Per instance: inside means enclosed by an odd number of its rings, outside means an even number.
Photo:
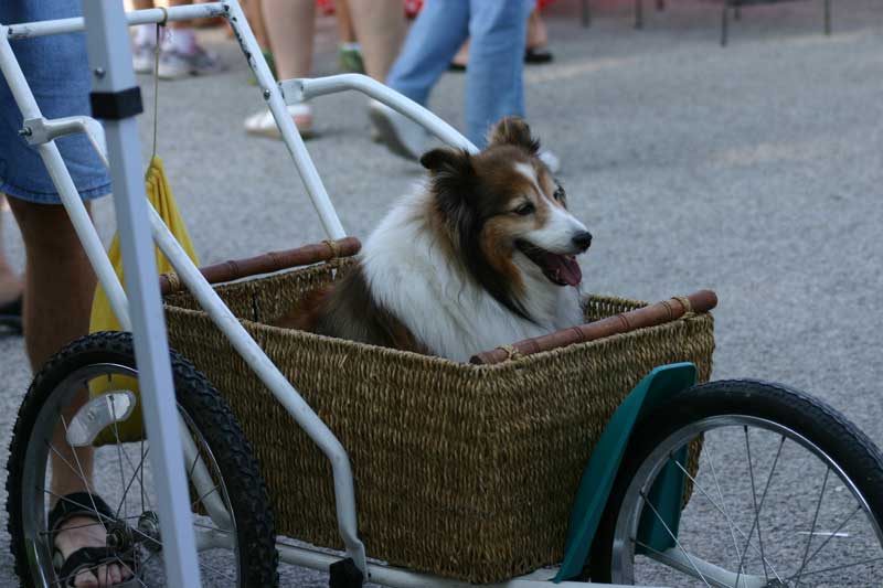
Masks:
[[[321,261],[328,261],[338,257],[351,257],[359,253],[362,244],[355,237],[345,237],[339,240],[323,240],[315,245],[306,245],[297,249],[286,249],[283,252],[270,252],[257,257],[246,259],[231,259],[205,266],[200,271],[209,284],[222,284],[233,281],[248,276],[260,274],[272,274],[283,269],[299,266],[309,266]],[[182,289],[178,276],[163,274],[159,277],[159,285],[162,295],[173,293]]]

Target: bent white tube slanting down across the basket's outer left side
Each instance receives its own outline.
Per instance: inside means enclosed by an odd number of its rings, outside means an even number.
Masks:
[[[240,321],[224,304],[214,289],[196,269],[196,266],[181,248],[174,235],[162,222],[157,211],[151,206],[150,227],[153,231],[153,240],[166,254],[181,281],[199,301],[200,306],[209,313],[221,332],[230,340],[236,352],[245,360],[254,373],[260,378],[276,399],[281,404],[300,428],[321,449],[331,462],[334,479],[334,501],[338,515],[338,528],[347,554],[352,557],[355,565],[364,574],[366,570],[365,548],[359,539],[355,517],[355,489],[352,479],[350,458],[334,434],[322,423],[322,419],[300,397],[297,391],[288,383],[285,375],[264,353]],[[368,575],[365,574],[365,577]]]

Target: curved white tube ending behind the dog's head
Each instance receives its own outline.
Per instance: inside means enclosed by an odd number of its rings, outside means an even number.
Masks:
[[[465,149],[470,153],[478,152],[478,148],[472,145],[469,139],[457,132],[457,129],[411,98],[402,96],[397,92],[390,89],[366,75],[341,74],[316,79],[286,79],[279,83],[279,87],[288,104],[296,104],[317,96],[336,94],[348,89],[361,92],[408,117],[411,120],[435,135],[442,142],[451,147]]]

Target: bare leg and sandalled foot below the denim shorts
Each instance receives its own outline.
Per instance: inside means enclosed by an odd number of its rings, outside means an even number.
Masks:
[[[88,332],[95,274],[64,207],[17,199],[9,199],[9,204],[26,250],[24,340],[31,366],[36,371],[63,345]],[[70,420],[86,397],[85,391],[77,395],[63,411],[65,419]],[[55,432],[52,442],[64,459],[75,463],[62,428]],[[79,468],[74,471],[53,452],[52,492],[56,495],[86,490],[91,482],[92,449],[78,449],[76,458]],[[55,536],[55,545],[62,555],[67,557],[84,546],[103,546],[105,531],[94,523],[91,517],[67,520],[62,525],[65,531]],[[107,586],[128,576],[117,565],[102,566],[95,571],[95,576],[88,571],[79,574],[75,584],[95,586],[97,578],[97,586]]]

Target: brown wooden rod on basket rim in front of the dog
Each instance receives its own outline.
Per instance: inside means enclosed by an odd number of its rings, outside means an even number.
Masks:
[[[701,314],[716,306],[717,295],[711,290],[700,290],[687,297],[674,297],[670,300],[623,312],[599,321],[571,327],[547,335],[525,339],[506,348],[497,348],[478,353],[469,362],[478,365],[492,365],[510,359],[513,352],[520,355],[531,355],[573,343],[595,341],[617,333],[626,333],[645,327],[671,322],[680,319],[687,312]]]

